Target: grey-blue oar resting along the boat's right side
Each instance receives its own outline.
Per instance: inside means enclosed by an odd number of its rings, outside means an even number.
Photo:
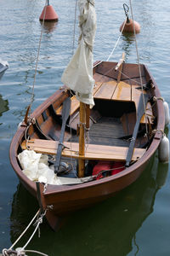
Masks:
[[[143,99],[143,94],[141,94],[140,98],[139,98],[137,120],[136,120],[136,124],[135,124],[134,130],[133,130],[133,137],[132,137],[131,143],[130,143],[128,151],[127,151],[127,159],[126,159],[126,164],[125,164],[126,167],[130,166],[130,162],[132,160],[134,144],[136,142],[136,137],[137,137],[138,131],[139,131],[140,119],[142,118],[142,116],[144,114],[144,110],[145,110],[146,104],[148,102],[148,97],[149,96],[147,94],[144,94],[144,99]]]

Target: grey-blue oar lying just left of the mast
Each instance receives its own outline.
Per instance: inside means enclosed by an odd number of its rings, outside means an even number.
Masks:
[[[56,154],[56,160],[54,163],[54,172],[57,173],[59,171],[59,165],[60,165],[60,160],[61,160],[61,152],[63,148],[63,141],[64,141],[64,136],[65,136],[65,125],[66,121],[69,118],[71,110],[71,98],[68,97],[65,99],[65,102],[63,102],[63,109],[62,109],[62,125],[61,125],[61,132],[60,132],[60,137],[59,137],[59,144],[57,148],[57,154]]]

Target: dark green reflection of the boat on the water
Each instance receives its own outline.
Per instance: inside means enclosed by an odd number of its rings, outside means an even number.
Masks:
[[[31,247],[48,255],[127,255],[139,251],[135,234],[154,211],[156,193],[166,182],[168,165],[152,157],[141,177],[115,197],[94,207],[75,212],[61,229],[54,233],[43,223],[41,238],[34,236]],[[19,184],[12,204],[11,241],[26,228],[37,212],[37,201]],[[27,237],[28,239],[28,237]],[[135,248],[133,248],[135,245]],[[20,245],[20,246],[23,246]]]

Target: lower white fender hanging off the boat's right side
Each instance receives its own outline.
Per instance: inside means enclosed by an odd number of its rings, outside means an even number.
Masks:
[[[158,148],[158,157],[161,162],[168,162],[169,160],[169,140],[165,134]]]

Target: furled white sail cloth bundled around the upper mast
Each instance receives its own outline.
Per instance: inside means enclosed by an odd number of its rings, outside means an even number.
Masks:
[[[78,0],[77,4],[80,10],[78,47],[65,68],[61,81],[76,91],[80,102],[93,106],[93,45],[96,30],[94,0]]]

